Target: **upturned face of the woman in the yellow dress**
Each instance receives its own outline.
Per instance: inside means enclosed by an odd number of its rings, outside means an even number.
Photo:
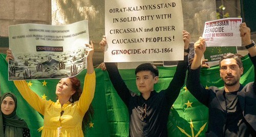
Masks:
[[[56,86],[56,95],[59,98],[70,98],[75,93],[69,78],[62,78]]]

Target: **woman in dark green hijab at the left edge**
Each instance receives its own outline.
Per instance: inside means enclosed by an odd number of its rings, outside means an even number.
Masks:
[[[1,97],[1,114],[5,137],[30,136],[27,123],[16,115],[17,98],[13,93],[5,93]],[[1,118],[1,117],[0,117]],[[1,120],[0,120],[1,121]],[[1,128],[2,125],[0,125]]]

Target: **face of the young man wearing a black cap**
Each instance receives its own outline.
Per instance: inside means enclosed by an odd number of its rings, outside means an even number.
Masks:
[[[148,93],[154,90],[154,84],[158,76],[153,76],[151,71],[140,71],[136,74],[136,85],[140,93]]]

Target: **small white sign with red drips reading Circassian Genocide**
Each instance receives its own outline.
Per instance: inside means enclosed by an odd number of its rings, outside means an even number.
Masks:
[[[241,46],[242,18],[223,18],[205,22],[203,38],[207,46]]]

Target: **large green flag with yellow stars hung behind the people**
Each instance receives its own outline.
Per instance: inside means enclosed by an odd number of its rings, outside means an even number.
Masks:
[[[8,64],[5,54],[0,54],[0,86],[1,92],[12,92],[17,96],[17,115],[24,119],[31,130],[32,136],[40,136],[38,132],[43,125],[43,117],[37,113],[19,94],[13,81],[8,81]],[[253,65],[248,56],[243,58],[244,74],[240,83],[245,85],[254,80]],[[158,67],[159,82],[155,85],[156,91],[168,87],[173,79],[176,67]],[[86,129],[86,136],[129,136],[129,115],[125,104],[113,88],[108,73],[100,69],[96,71],[96,91],[93,99],[94,118],[90,127]],[[138,92],[134,69],[120,70],[127,87]],[[86,70],[77,75],[83,84]],[[27,80],[28,85],[39,96],[46,100],[56,101],[55,89],[59,79]],[[201,83],[205,88],[210,86],[223,87],[220,79],[219,67],[214,66],[201,70]],[[187,91],[184,86],[180,95],[170,109],[168,118],[169,136],[204,136],[207,130],[208,109]]]

